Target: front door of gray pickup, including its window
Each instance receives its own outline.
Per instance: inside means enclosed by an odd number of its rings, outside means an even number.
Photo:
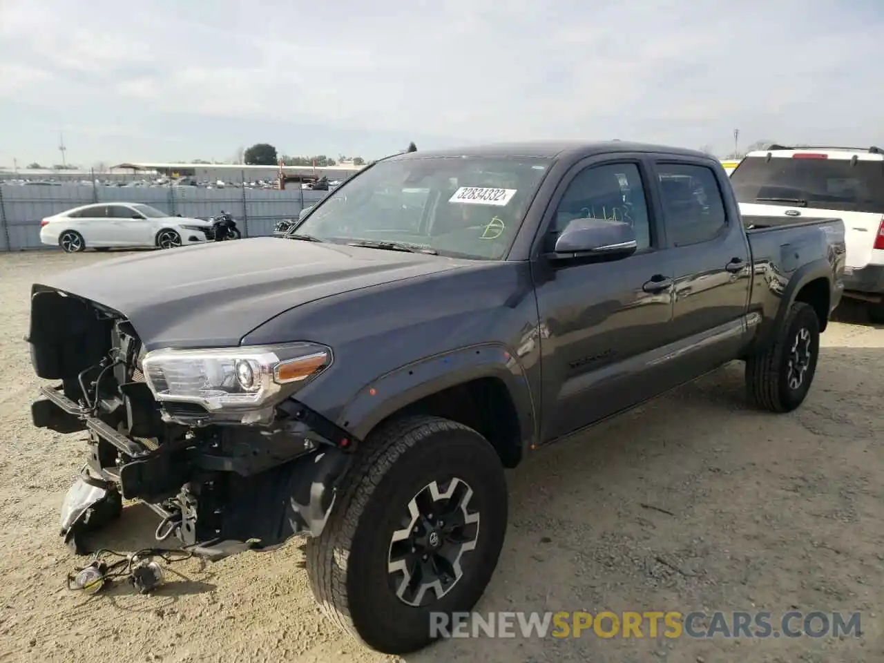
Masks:
[[[563,179],[545,250],[575,217],[629,221],[638,249],[607,263],[535,266],[543,341],[542,407],[551,441],[629,408],[659,391],[645,358],[669,342],[672,289],[666,252],[649,213],[642,157],[578,164]],[[546,338],[548,335],[548,338]]]

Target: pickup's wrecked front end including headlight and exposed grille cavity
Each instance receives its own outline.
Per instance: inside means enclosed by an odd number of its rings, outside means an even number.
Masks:
[[[148,350],[122,313],[34,286],[27,341],[43,386],[34,425],[88,434],[62,507],[83,535],[138,500],[156,538],[210,558],[319,536],[358,440],[296,398],[333,362],[312,342]]]

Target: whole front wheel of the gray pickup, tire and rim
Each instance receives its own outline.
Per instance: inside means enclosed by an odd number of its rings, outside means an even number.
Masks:
[[[357,453],[322,536],[308,542],[310,585],[364,644],[414,652],[491,580],[507,531],[503,465],[476,431],[430,416],[385,424]]]

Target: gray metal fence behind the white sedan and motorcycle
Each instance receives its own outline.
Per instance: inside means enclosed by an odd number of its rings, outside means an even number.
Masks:
[[[262,188],[240,175],[224,186],[179,187],[132,178],[124,186],[108,186],[93,177],[80,182],[20,185],[0,182],[0,251],[50,248],[40,241],[40,221],[65,210],[95,202],[141,202],[170,216],[232,215],[243,237],[271,235],[277,221],[296,218],[304,207],[327,192],[290,185],[285,191]]]

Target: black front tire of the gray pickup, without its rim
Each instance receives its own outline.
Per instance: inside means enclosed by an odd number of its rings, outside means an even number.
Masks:
[[[479,433],[435,416],[382,424],[356,453],[322,535],[306,546],[310,586],[326,617],[363,644],[415,652],[438,638],[431,636],[431,611],[469,612],[491,580],[507,530],[503,465]],[[451,591],[431,606],[408,606],[389,586],[392,532],[415,493],[451,476],[474,491],[476,549]]]

